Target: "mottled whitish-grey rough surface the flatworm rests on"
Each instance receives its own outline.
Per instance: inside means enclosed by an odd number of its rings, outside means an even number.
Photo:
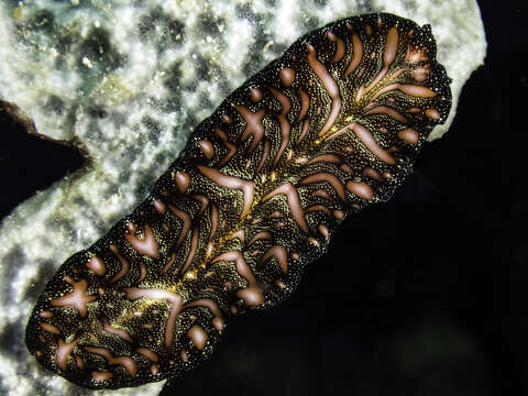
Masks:
[[[183,2],[180,10],[163,10],[161,6],[132,10],[98,3],[72,7],[72,13],[51,11],[52,16],[55,12],[53,23],[32,22],[34,6],[2,10],[3,15],[13,16],[2,19],[3,30],[14,32],[9,24],[13,19],[19,21],[16,34],[1,35],[2,57],[14,61],[2,64],[3,97],[33,117],[41,133],[58,139],[78,135],[95,165],[82,178],[64,180],[41,193],[3,222],[2,271],[3,276],[13,279],[2,285],[4,306],[10,307],[0,318],[3,332],[22,333],[42,282],[51,277],[54,267],[75,250],[94,242],[144,198],[190,128],[300,33],[378,7],[418,23],[431,23],[439,41],[439,59],[454,80],[457,96],[484,53],[476,6],[458,1],[419,7],[391,3],[392,9],[365,3],[351,9],[337,1],[324,6],[288,2],[277,3],[278,10],[268,2]],[[468,18],[462,22],[464,14]],[[112,23],[112,18],[121,23]],[[461,22],[457,23],[459,18]],[[68,23],[84,38],[73,42],[81,43],[81,47],[57,36],[56,32],[66,31]],[[174,40],[167,41],[167,36]],[[13,52],[15,46],[18,52]],[[72,55],[62,55],[65,48]],[[148,52],[151,56],[146,56]],[[464,58],[468,54],[470,59]],[[34,279],[43,280],[33,285]],[[13,351],[19,356],[25,354],[21,343],[14,342]],[[2,355],[7,359],[8,369],[2,374],[7,391],[50,381],[31,360],[26,363],[19,358],[14,363],[9,356]],[[16,372],[28,373],[28,377],[16,376]],[[51,381],[55,389],[66,386],[61,380]]]

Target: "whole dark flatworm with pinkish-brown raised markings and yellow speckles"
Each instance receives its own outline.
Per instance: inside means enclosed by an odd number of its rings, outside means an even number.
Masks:
[[[30,318],[31,353],[90,388],[194,367],[230,317],[287,298],[346,216],[394,194],[448,116],[449,82],[428,25],[376,13],[300,37],[61,266]]]

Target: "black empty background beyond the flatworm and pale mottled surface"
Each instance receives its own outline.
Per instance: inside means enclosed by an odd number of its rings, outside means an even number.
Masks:
[[[528,6],[480,4],[487,57],[450,132],[288,301],[233,320],[164,396],[528,395]],[[0,131],[0,217],[82,163],[2,113]]]

